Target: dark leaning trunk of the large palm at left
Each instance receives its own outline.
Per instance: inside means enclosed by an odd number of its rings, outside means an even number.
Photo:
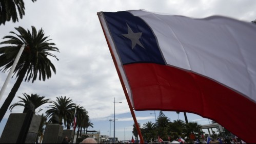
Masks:
[[[15,94],[18,91],[19,86],[21,86],[23,78],[26,75],[26,72],[27,72],[27,66],[25,64],[18,75],[17,81],[15,82],[14,86],[11,89],[11,92],[9,93],[8,97],[6,98],[4,104],[2,105],[2,107],[0,109],[0,123],[1,123],[2,119],[4,118],[5,113],[8,110],[8,107],[10,106],[13,98],[15,97]]]

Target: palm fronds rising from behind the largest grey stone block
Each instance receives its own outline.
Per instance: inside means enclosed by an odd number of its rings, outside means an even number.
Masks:
[[[22,100],[18,101],[17,103],[12,104],[10,106],[9,109],[11,111],[15,106],[24,106],[25,107],[25,104],[27,104],[29,101],[32,102],[32,104],[34,104],[35,109],[50,101],[50,99],[44,99],[45,98],[44,96],[40,97],[40,95],[37,95],[37,94],[31,94],[31,96],[30,96],[27,93],[23,93],[23,95],[25,98],[18,97],[19,99],[22,99]]]

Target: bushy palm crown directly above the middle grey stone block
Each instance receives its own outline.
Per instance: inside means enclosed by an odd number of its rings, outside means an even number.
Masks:
[[[64,127],[66,128],[68,119],[73,117],[73,109],[75,108],[75,104],[70,98],[67,98],[66,96],[64,98],[62,96],[56,97],[56,99],[56,102],[50,102],[51,105],[48,107],[50,109],[46,111],[46,116],[52,117],[56,110],[59,110],[60,114],[58,117],[60,118],[60,123],[64,121]],[[48,123],[51,123],[51,120],[52,119],[49,118]]]

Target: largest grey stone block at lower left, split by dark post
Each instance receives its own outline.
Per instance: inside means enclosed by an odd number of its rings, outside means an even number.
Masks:
[[[4,131],[0,138],[0,143],[16,143],[19,133],[27,113],[11,113]],[[41,116],[33,115],[25,143],[35,143],[38,129],[41,123]]]

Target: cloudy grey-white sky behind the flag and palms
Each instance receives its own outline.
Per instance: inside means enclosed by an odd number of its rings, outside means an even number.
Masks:
[[[70,97],[74,103],[84,106],[89,112],[94,128],[101,131],[102,135],[109,135],[109,121],[113,118],[114,98],[122,104],[115,105],[116,136],[124,140],[131,139],[133,120],[128,104],[117,76],[112,58],[109,53],[106,39],[100,26],[97,12],[100,11],[125,11],[144,9],[151,12],[166,13],[170,15],[183,15],[192,18],[205,18],[212,15],[228,16],[250,22],[256,19],[256,1],[254,0],[37,0],[32,3],[25,1],[25,16],[19,22],[6,22],[0,26],[0,42],[3,37],[10,35],[10,31],[17,32],[15,27],[23,27],[31,31],[31,26],[37,30],[43,28],[45,35],[50,36],[60,49],[54,53],[59,61],[52,59],[56,67],[56,75],[49,80],[23,82],[16,96],[23,93],[37,93],[53,101],[56,97]],[[0,45],[1,46],[1,45]],[[0,87],[3,86],[8,73],[0,73]],[[3,105],[14,82],[11,79],[0,106]],[[19,101],[14,98],[13,103]],[[43,105],[42,112],[48,105]],[[22,107],[15,107],[13,113],[22,112]],[[41,112],[41,113],[42,113]],[[41,114],[40,113],[40,114]],[[139,123],[154,122],[154,111],[135,112]],[[159,111],[156,111],[156,118]],[[0,124],[0,134],[9,117],[8,111]],[[165,112],[171,119],[176,120],[175,112]],[[180,119],[184,116],[181,113]],[[190,122],[209,124],[208,119],[195,114],[188,114]],[[184,119],[183,119],[184,120]],[[113,129],[111,124],[111,129]],[[111,136],[113,132],[111,130]]]

